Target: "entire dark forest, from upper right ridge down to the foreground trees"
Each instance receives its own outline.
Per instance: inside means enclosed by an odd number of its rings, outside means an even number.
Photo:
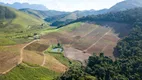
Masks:
[[[86,67],[70,68],[57,80],[141,80],[142,8],[80,18],[77,21],[113,21],[133,25],[131,33],[118,42],[115,61],[100,53],[89,57]],[[116,53],[114,53],[116,55]],[[86,76],[90,76],[89,78]]]

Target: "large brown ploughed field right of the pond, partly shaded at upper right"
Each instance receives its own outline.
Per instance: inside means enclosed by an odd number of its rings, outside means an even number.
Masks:
[[[114,47],[121,38],[128,35],[129,26],[114,22],[74,23],[42,38],[54,38],[56,41],[52,43],[64,44],[64,55],[69,59],[83,62],[91,54],[99,55],[101,52],[114,59]]]

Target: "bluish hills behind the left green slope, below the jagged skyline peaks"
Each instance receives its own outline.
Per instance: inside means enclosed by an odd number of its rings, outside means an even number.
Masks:
[[[61,12],[61,11],[55,11],[55,10],[43,11],[43,10],[33,10],[33,9],[27,9],[27,8],[19,9],[19,10],[42,19],[68,13],[68,12]]]

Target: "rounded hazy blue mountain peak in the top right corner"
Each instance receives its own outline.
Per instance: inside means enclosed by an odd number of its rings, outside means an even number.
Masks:
[[[112,6],[108,12],[124,11],[136,7],[142,7],[142,0],[125,0]]]

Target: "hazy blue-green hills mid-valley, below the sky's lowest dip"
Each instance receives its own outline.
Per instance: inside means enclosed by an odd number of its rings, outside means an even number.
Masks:
[[[51,26],[59,26],[60,24],[71,22],[83,16],[98,15],[104,13],[107,13],[107,9],[102,9],[98,11],[97,10],[74,11],[63,15],[48,17],[45,19],[45,21],[51,22],[52,23]]]

